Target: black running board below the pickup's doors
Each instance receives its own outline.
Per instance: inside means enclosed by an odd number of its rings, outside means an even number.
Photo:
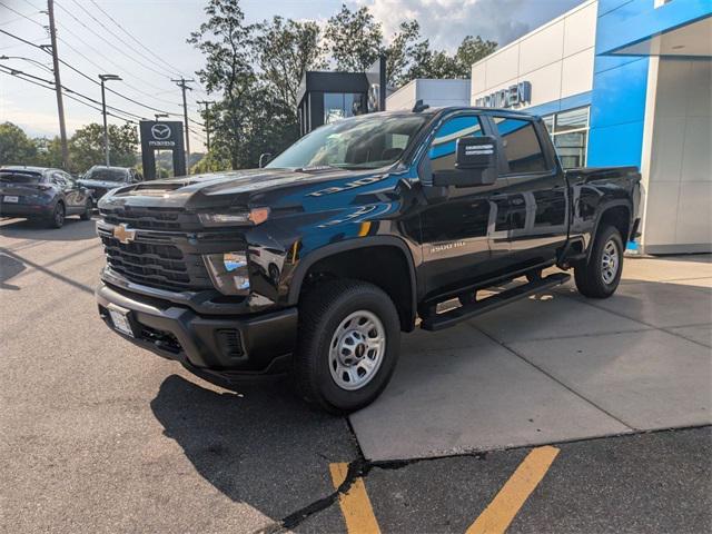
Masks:
[[[492,297],[483,298],[474,304],[468,304],[467,306],[461,306],[451,312],[445,312],[444,314],[433,315],[431,317],[426,317],[421,323],[421,328],[424,330],[442,330],[444,328],[449,328],[451,326],[455,326],[463,320],[472,319],[473,317],[477,317],[478,315],[486,314],[487,312],[492,312],[493,309],[497,309],[502,306],[505,306],[510,303],[514,303],[515,300],[520,300],[521,298],[526,298],[536,293],[541,293],[551,287],[558,286],[564,284],[571,278],[571,275],[566,273],[556,273],[547,276],[546,278],[542,278],[540,280],[534,280],[528,284],[524,284],[522,286],[513,287],[512,289],[507,289],[502,293],[497,293]]]

